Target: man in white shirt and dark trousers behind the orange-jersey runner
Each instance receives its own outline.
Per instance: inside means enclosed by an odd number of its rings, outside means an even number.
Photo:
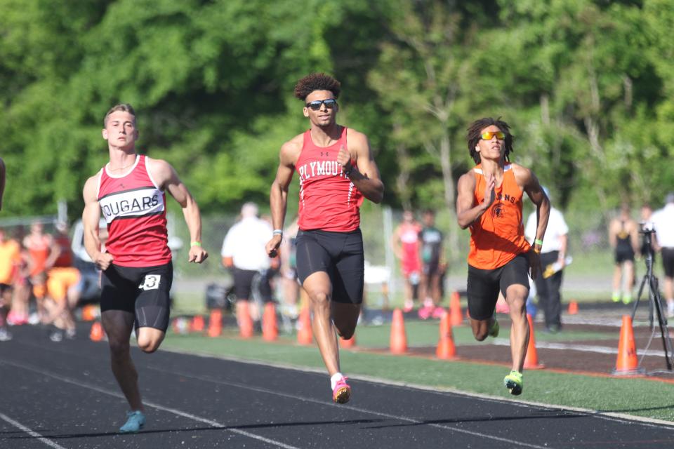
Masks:
[[[546,187],[543,190],[550,198],[550,193]],[[524,236],[529,243],[533,244],[536,238],[536,211],[529,215],[527,227],[524,228]],[[538,293],[538,307],[543,309],[546,317],[546,329],[551,333],[557,333],[562,329],[562,297],[560,288],[562,287],[562,273],[564,269],[564,259],[567,254],[569,227],[564,221],[564,215],[553,206],[550,206],[550,218],[548,219],[548,228],[546,237],[541,247],[541,267],[543,273],[536,277],[536,291]],[[550,265],[557,264],[557,272],[550,274]],[[549,276],[548,276],[549,275]],[[548,276],[548,277],[546,277]]]

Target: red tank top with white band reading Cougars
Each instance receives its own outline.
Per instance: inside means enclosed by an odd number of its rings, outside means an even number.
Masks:
[[[105,248],[122,267],[154,267],[171,261],[167,244],[166,194],[152,180],[143,155],[131,171],[112,175],[101,168],[98,204],[107,222]]]

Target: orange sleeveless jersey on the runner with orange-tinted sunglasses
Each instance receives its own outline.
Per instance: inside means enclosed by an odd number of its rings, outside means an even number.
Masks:
[[[473,168],[473,173],[473,203],[479,204],[484,200],[486,186],[482,165]],[[508,163],[503,168],[501,187],[494,188],[494,203],[470,226],[469,265],[479,269],[496,269],[529,250],[522,224],[523,193],[515,180],[513,166]]]

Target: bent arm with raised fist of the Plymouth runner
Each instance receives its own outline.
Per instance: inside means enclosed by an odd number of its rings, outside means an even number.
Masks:
[[[381,203],[384,197],[384,183],[381,182],[367,136],[351,128],[346,132],[348,149],[339,149],[337,161],[344,170],[348,171],[351,168],[349,179],[366,199],[373,203]],[[356,161],[355,167],[351,167],[352,159]]]

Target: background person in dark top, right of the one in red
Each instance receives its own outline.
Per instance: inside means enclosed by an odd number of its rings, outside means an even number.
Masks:
[[[435,227],[435,210],[427,209],[423,213],[423,229],[421,229],[421,288],[420,296],[424,298],[423,307],[419,309],[421,319],[440,318],[444,309],[442,302],[442,288],[440,279],[442,272],[447,269],[442,257],[442,240],[444,236],[440,229]]]

